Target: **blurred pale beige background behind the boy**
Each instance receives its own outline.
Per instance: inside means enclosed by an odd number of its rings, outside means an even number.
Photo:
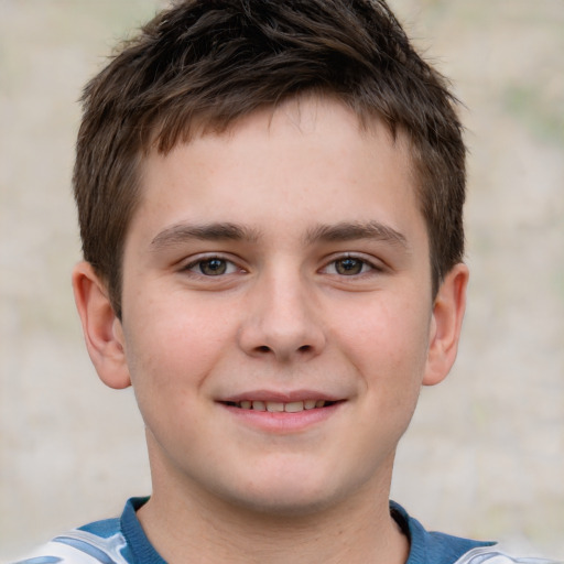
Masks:
[[[85,82],[158,0],[0,0],[0,561],[150,492],[130,390],[90,366],[69,273]],[[392,497],[429,529],[564,557],[564,1],[390,0],[465,102],[459,358]]]

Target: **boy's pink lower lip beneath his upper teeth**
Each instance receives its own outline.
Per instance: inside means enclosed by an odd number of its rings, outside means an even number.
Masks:
[[[247,425],[268,431],[272,433],[296,433],[317,425],[343,409],[345,402],[337,402],[325,408],[315,408],[313,410],[303,410],[296,413],[288,413],[285,411],[270,412],[243,410],[232,405],[220,405],[231,415]]]

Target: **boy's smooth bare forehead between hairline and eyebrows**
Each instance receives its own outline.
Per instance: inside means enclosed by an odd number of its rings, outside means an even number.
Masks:
[[[261,232],[284,220],[305,231],[315,220],[386,219],[393,227],[416,215],[414,192],[401,133],[376,119],[361,122],[333,99],[308,97],[203,132],[166,154],[152,151],[133,224],[205,219]]]

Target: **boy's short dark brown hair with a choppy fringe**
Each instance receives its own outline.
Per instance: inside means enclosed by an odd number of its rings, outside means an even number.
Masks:
[[[121,315],[124,238],[152,148],[307,93],[336,97],[409,140],[433,290],[463,258],[465,147],[446,80],[383,0],[184,0],[127,42],[86,86],[74,189],[84,257]]]

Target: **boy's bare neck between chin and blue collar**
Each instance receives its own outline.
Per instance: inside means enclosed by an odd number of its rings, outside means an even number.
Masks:
[[[273,516],[156,480],[138,517],[170,564],[196,554],[202,564],[404,564],[409,541],[390,516],[389,487],[375,489],[307,514]]]

